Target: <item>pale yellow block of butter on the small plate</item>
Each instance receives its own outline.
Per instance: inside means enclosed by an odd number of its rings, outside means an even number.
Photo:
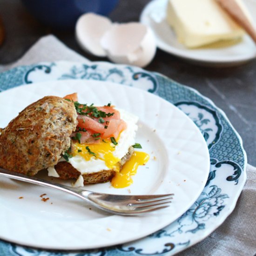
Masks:
[[[167,21],[178,41],[189,48],[237,39],[244,34],[216,0],[168,0]]]

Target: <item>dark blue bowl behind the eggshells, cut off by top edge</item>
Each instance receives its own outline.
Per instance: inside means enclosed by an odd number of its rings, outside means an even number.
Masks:
[[[47,26],[72,29],[83,13],[108,15],[118,0],[22,0],[27,9]]]

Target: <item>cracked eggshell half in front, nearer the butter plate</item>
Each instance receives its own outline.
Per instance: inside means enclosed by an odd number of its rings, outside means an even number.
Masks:
[[[113,24],[103,34],[101,46],[111,61],[138,67],[147,66],[156,52],[153,32],[138,22]]]

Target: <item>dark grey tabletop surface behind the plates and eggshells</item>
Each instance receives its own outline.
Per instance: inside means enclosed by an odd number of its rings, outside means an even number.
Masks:
[[[109,17],[113,21],[138,21],[149,0],[120,0]],[[6,39],[0,47],[0,65],[20,58],[41,36],[54,34],[68,47],[92,61],[108,61],[84,53],[74,31],[59,32],[37,21],[19,0],[0,0]],[[221,108],[241,135],[248,162],[256,166],[256,59],[236,67],[203,67],[157,50],[149,71],[159,72],[195,88]]]

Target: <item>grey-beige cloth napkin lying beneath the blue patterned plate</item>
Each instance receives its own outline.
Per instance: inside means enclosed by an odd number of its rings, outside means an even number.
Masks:
[[[15,63],[0,66],[0,72],[40,61],[86,61],[53,35],[42,37]],[[178,256],[255,256],[256,255],[256,168],[248,165],[247,182],[226,221],[202,242]]]

